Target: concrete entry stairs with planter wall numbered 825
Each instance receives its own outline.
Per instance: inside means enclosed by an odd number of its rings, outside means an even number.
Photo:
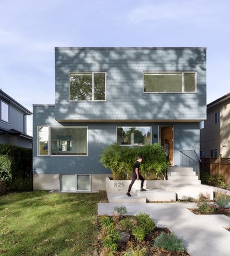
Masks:
[[[109,203],[170,202],[188,198],[197,199],[200,193],[208,194],[213,200],[213,187],[201,185],[201,180],[198,179],[193,168],[182,166],[169,167],[167,180],[145,180],[145,192],[140,192],[140,180],[136,180],[132,186],[131,197],[126,195],[131,180],[122,182],[121,180],[107,180],[106,182]],[[112,184],[121,185],[117,189],[117,185]]]

